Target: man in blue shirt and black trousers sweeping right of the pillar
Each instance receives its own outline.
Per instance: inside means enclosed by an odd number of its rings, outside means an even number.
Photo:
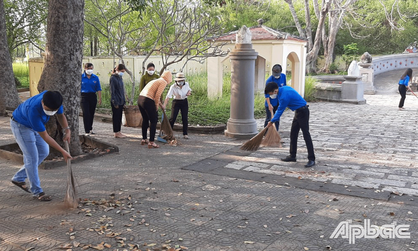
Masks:
[[[268,122],[267,127],[270,127],[280,119],[286,108],[290,108],[295,111],[293,117],[292,126],[290,129],[290,155],[282,161],[296,161],[296,150],[298,148],[298,134],[299,130],[302,130],[303,139],[306,143],[306,149],[308,149],[308,162],[306,167],[315,165],[314,145],[312,144],[311,134],[309,133],[309,105],[306,105],[306,101],[303,99],[295,89],[290,86],[278,87],[276,83],[270,82],[266,85],[264,93],[267,95],[273,95],[277,93],[279,98],[279,107],[274,114],[273,118]]]

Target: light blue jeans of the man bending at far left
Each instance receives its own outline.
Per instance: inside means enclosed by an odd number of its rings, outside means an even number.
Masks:
[[[43,192],[38,176],[38,166],[49,154],[49,145],[38,132],[10,120],[13,136],[23,152],[23,166],[13,176],[15,182],[23,182],[26,178],[31,182],[31,192],[38,195]]]

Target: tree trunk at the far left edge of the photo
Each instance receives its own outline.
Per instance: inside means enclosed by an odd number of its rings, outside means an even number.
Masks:
[[[13,74],[12,59],[6,35],[6,20],[3,1],[0,2],[0,67],[3,69],[3,76],[0,78],[0,115],[4,115],[6,107],[16,108],[20,104],[18,90],[16,89],[15,77]]]

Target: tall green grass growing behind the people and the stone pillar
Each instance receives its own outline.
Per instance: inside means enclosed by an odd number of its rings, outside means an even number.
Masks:
[[[219,125],[227,123],[229,119],[229,112],[231,106],[231,75],[225,74],[223,77],[222,96],[214,99],[207,97],[207,74],[198,73],[186,76],[186,81],[189,82],[192,89],[192,95],[187,99],[189,101],[189,124],[191,125]],[[171,83],[172,84],[172,83]],[[131,85],[129,82],[125,83],[128,97],[131,93]],[[163,97],[166,97],[169,86],[163,92]],[[139,91],[135,88],[134,105],[137,104]],[[264,118],[264,95],[255,95],[254,117]],[[101,108],[110,108],[110,92],[109,86],[102,87],[102,105]],[[171,100],[168,102],[166,114],[171,114]],[[161,114],[160,114],[161,116]],[[161,117],[160,117],[161,118]],[[178,123],[181,123],[181,114],[178,115]]]

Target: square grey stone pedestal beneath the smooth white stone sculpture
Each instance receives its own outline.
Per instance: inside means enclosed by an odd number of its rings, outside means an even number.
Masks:
[[[362,105],[366,103],[363,97],[364,84],[360,76],[345,76],[341,84],[341,99],[343,102]]]

